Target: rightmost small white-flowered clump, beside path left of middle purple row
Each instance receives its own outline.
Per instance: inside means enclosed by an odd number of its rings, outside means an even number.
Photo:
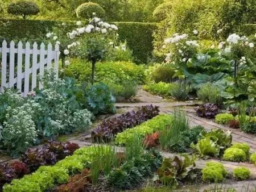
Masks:
[[[72,118],[72,126],[76,131],[83,131],[92,126],[92,113],[86,109],[76,110]]]

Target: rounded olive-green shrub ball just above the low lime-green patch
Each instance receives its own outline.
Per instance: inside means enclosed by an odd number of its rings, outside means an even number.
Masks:
[[[156,84],[161,81],[170,83],[174,74],[175,69],[171,68],[170,65],[158,66],[150,74],[150,80],[154,81]]]

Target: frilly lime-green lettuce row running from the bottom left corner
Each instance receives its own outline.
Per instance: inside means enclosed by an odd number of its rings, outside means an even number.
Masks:
[[[51,189],[55,184],[68,182],[69,175],[80,173],[96,158],[96,153],[104,156],[109,152],[109,147],[85,147],[77,149],[72,156],[68,156],[53,166],[40,166],[30,175],[19,180],[13,180],[3,186],[4,192],[43,192]]]

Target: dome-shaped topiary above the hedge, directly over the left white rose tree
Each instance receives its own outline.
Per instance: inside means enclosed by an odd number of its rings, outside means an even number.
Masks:
[[[105,10],[97,3],[83,3],[76,9],[76,16],[79,19],[90,19],[93,17],[94,13],[99,18],[103,18],[105,16]]]

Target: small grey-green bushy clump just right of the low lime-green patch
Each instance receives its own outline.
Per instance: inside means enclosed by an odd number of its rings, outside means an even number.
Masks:
[[[189,86],[185,81],[175,82],[171,87],[171,96],[177,100],[185,101],[188,98],[190,91]]]

